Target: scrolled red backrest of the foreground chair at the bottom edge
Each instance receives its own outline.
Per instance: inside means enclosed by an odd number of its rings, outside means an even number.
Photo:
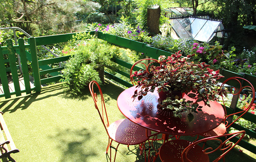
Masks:
[[[245,136],[245,131],[237,131],[221,136],[207,137],[190,144],[182,151],[182,162],[206,162],[213,157],[217,158],[211,162],[218,162]],[[213,141],[213,142],[210,142]],[[232,142],[231,142],[232,141]],[[202,151],[195,148],[201,147]],[[212,154],[212,156],[208,156]],[[215,155],[213,155],[215,154]],[[211,158],[212,157],[212,158]],[[195,160],[196,159],[196,160]]]

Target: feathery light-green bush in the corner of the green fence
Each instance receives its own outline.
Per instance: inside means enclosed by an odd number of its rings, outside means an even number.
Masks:
[[[63,53],[71,55],[63,70],[63,77],[74,94],[81,93],[81,90],[92,80],[102,83],[104,75],[102,79],[99,73],[105,67],[114,71],[117,65],[111,61],[111,58],[120,55],[118,47],[94,37],[76,43],[74,48],[67,45]]]

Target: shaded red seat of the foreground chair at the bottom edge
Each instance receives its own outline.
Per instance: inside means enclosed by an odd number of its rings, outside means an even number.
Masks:
[[[162,145],[159,157],[162,162],[182,162],[182,151],[192,142],[182,139],[171,140]],[[209,162],[209,156],[203,153],[202,147],[195,145],[189,153],[188,158],[192,162]],[[184,162],[189,162],[186,159]]]

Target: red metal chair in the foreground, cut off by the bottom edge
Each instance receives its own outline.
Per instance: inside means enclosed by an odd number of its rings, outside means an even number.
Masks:
[[[245,131],[238,131],[221,136],[203,138],[194,143],[182,139],[170,140],[164,143],[160,148],[159,157],[162,162],[210,162],[209,154],[212,154],[212,158],[217,158],[211,160],[211,162],[218,162],[222,158],[225,162],[224,156],[233,149],[244,136]],[[237,139],[235,139],[235,137]]]

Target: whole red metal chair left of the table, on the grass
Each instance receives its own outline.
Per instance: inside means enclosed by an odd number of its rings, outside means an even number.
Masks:
[[[96,85],[95,87],[97,87],[96,88],[97,92],[100,93],[99,99],[97,94],[95,93],[96,91],[94,91],[95,90],[94,85]],[[140,153],[142,153],[143,149],[145,149],[145,142],[148,141],[148,138],[149,138],[148,136],[150,136],[151,132],[147,131],[145,128],[139,125],[136,125],[135,123],[131,122],[127,118],[117,120],[111,125],[109,125],[108,115],[107,115],[101,87],[96,81],[91,81],[89,84],[89,89],[94,100],[94,106],[98,111],[101,121],[108,134],[108,147],[106,150],[106,154],[108,154],[108,149],[110,147],[110,162],[111,162],[111,148],[115,149],[115,157],[116,157],[116,152],[119,144],[125,144],[128,146],[139,144],[140,151],[141,151]],[[118,143],[116,147],[112,146],[113,141]],[[145,162],[146,162],[145,151],[144,151],[144,155],[145,155]],[[115,162],[115,157],[114,157],[114,162]]]

